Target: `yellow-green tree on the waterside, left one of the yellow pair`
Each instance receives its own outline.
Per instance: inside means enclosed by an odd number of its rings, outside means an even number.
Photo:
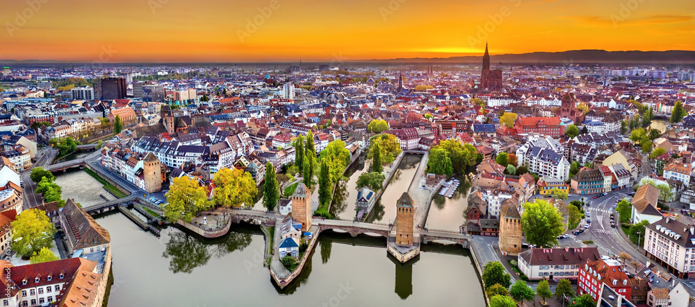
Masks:
[[[206,189],[198,184],[197,179],[188,176],[174,178],[165,196],[167,202],[162,209],[170,222],[179,219],[190,222],[198,212],[211,207]]]

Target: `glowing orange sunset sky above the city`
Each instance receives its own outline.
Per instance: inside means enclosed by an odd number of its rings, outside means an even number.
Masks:
[[[492,54],[695,50],[692,0],[29,1],[40,5],[1,4],[0,59],[309,62],[450,57],[481,55],[485,40]],[[268,17],[261,15],[262,8]],[[247,28],[254,19],[258,26]]]

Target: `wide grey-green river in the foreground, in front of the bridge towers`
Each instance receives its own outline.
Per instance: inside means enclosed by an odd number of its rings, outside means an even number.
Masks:
[[[97,222],[113,247],[108,306],[485,305],[473,260],[458,246],[423,245],[402,265],[386,256],[384,238],[326,231],[300,277],[279,290],[262,265],[259,227],[234,225],[202,241],[174,227],[156,238],[120,213]]]

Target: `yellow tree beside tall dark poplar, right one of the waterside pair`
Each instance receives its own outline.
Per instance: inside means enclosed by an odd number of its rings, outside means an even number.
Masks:
[[[272,170],[275,175],[275,169]],[[249,172],[238,168],[221,168],[215,173],[215,203],[227,208],[238,208],[242,204],[253,206],[258,187]],[[277,186],[277,180],[275,181]]]

